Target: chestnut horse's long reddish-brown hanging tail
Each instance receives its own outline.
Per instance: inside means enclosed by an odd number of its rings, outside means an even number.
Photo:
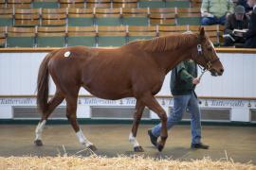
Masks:
[[[49,82],[49,71],[48,71],[48,62],[50,57],[52,56],[52,52],[46,55],[46,58],[42,61],[38,76],[37,76],[37,106],[39,110],[44,114],[48,109],[48,82]]]

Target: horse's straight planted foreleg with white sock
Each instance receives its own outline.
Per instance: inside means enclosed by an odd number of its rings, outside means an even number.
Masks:
[[[137,127],[139,125],[143,110],[144,110],[145,106],[142,104],[141,101],[137,100],[136,103],[136,111],[134,114],[134,122],[133,122],[133,127],[132,127],[132,132],[129,135],[129,141],[131,144],[134,145],[134,150],[136,152],[143,152],[143,148],[137,143]]]

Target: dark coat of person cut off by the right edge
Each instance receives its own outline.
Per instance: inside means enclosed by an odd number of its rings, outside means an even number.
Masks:
[[[246,48],[256,48],[256,8],[251,13],[248,31],[244,34],[244,37],[247,39]]]

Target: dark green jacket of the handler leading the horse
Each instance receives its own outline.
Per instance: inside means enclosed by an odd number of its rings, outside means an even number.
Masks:
[[[197,65],[193,60],[180,62],[173,70],[171,76],[171,92],[173,95],[189,94],[194,91],[192,78],[197,77]]]

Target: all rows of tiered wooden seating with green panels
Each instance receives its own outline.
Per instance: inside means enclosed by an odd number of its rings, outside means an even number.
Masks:
[[[200,5],[201,0],[0,0],[0,46],[119,46],[197,31]],[[207,29],[220,44],[222,26]]]

